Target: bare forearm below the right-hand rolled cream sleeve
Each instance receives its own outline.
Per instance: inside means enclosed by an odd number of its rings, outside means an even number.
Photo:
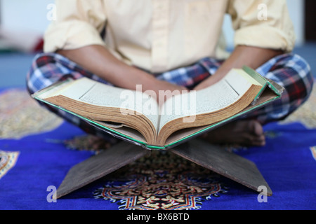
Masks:
[[[251,69],[257,69],[259,66],[268,62],[269,59],[281,55],[282,51],[265,48],[255,48],[251,46],[239,45],[232,52],[230,57],[220,66],[213,76],[207,78],[195,87],[195,90],[202,90],[221,80],[230,69],[239,69],[246,65]]]

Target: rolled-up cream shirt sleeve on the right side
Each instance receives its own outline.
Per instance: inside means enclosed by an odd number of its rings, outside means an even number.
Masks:
[[[230,0],[228,13],[235,29],[235,45],[251,45],[290,52],[295,33],[286,0]]]

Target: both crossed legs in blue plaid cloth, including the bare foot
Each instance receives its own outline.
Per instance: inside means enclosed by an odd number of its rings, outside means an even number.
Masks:
[[[192,66],[155,75],[158,79],[190,88],[215,73],[221,64],[222,61],[205,58]],[[310,96],[313,84],[310,66],[298,55],[279,55],[263,64],[257,71],[285,88],[282,99],[252,113],[245,119],[237,120],[206,134],[204,139],[213,144],[263,146],[265,144],[263,125],[286,118]],[[76,79],[83,76],[111,85],[61,55],[41,54],[34,59],[32,69],[27,75],[27,88],[32,94],[58,80]],[[92,127],[84,120],[79,120],[79,118],[51,106],[44,106],[88,134],[100,136],[107,141],[114,141],[113,137]]]

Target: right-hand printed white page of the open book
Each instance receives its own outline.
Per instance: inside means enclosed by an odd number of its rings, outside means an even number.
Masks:
[[[232,70],[220,82],[204,90],[176,95],[167,100],[162,107],[162,111],[169,111],[169,114],[161,112],[159,129],[177,118],[191,116],[193,122],[194,115],[224,109],[237,102],[249,87],[251,87],[251,81]],[[190,119],[187,122],[190,123]]]

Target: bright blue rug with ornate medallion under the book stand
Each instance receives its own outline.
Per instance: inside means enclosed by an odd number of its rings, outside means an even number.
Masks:
[[[271,197],[173,153],[153,152],[53,200],[69,169],[98,151],[76,148],[72,140],[86,136],[65,122],[23,133],[0,137],[1,210],[316,209],[316,130],[301,123],[271,123],[265,126],[266,146],[233,149],[257,165]]]

